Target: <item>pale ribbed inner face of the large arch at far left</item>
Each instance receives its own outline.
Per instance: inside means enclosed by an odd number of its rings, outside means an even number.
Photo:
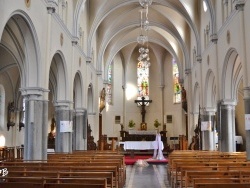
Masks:
[[[11,34],[15,46],[11,46],[21,57],[17,61],[20,67],[21,87],[41,86],[41,54],[35,26],[31,18],[22,10],[14,11],[5,28]],[[13,50],[11,50],[13,52]]]

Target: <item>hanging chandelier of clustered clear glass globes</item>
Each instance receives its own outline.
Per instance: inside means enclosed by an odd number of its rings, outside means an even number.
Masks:
[[[139,0],[140,5],[143,7],[140,12],[140,35],[137,37],[138,44],[141,45],[139,48],[138,61],[145,68],[150,66],[149,48],[148,48],[148,6],[152,4],[152,0]]]

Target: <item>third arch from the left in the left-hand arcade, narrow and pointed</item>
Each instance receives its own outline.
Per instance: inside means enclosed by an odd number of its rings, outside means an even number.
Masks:
[[[82,76],[80,72],[77,72],[74,79],[74,107],[82,108],[83,107],[83,84]]]

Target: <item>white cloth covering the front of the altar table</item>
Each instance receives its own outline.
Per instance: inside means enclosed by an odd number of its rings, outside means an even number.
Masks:
[[[150,150],[158,149],[157,141],[126,141],[123,143],[124,150]],[[161,141],[161,150],[164,149],[163,142]]]

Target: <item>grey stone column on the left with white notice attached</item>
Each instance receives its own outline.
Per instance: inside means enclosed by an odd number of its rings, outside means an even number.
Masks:
[[[72,122],[73,111],[70,109],[69,101],[57,101],[56,110],[56,140],[55,152],[72,153],[72,132],[61,132],[60,123],[62,121]]]

